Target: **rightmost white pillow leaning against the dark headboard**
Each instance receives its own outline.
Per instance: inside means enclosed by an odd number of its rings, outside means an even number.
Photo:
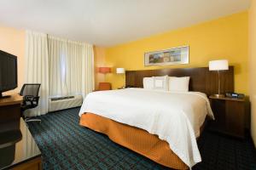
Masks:
[[[169,91],[189,92],[189,77],[169,77]]]

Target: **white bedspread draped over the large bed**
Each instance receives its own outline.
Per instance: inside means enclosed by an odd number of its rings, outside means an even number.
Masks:
[[[79,116],[84,112],[158,135],[189,167],[201,161],[195,138],[200,135],[202,123],[207,115],[214,118],[206,94],[143,88],[90,93],[84,99]]]

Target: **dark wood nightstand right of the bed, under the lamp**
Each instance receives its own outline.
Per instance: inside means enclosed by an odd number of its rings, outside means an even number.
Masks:
[[[247,99],[209,97],[215,121],[210,122],[210,130],[244,138],[248,120]]]

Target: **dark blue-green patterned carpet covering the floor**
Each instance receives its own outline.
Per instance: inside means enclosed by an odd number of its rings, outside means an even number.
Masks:
[[[29,127],[43,155],[43,167],[50,169],[168,169],[144,156],[114,144],[107,136],[79,126],[79,108],[44,116]],[[230,139],[209,133],[198,141],[202,162],[193,170],[256,170],[252,140]]]

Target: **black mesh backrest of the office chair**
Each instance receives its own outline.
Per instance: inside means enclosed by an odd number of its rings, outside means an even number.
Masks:
[[[34,97],[38,97],[39,89],[41,84],[33,83],[33,84],[23,84],[20,95],[26,96],[26,95],[32,95]]]

